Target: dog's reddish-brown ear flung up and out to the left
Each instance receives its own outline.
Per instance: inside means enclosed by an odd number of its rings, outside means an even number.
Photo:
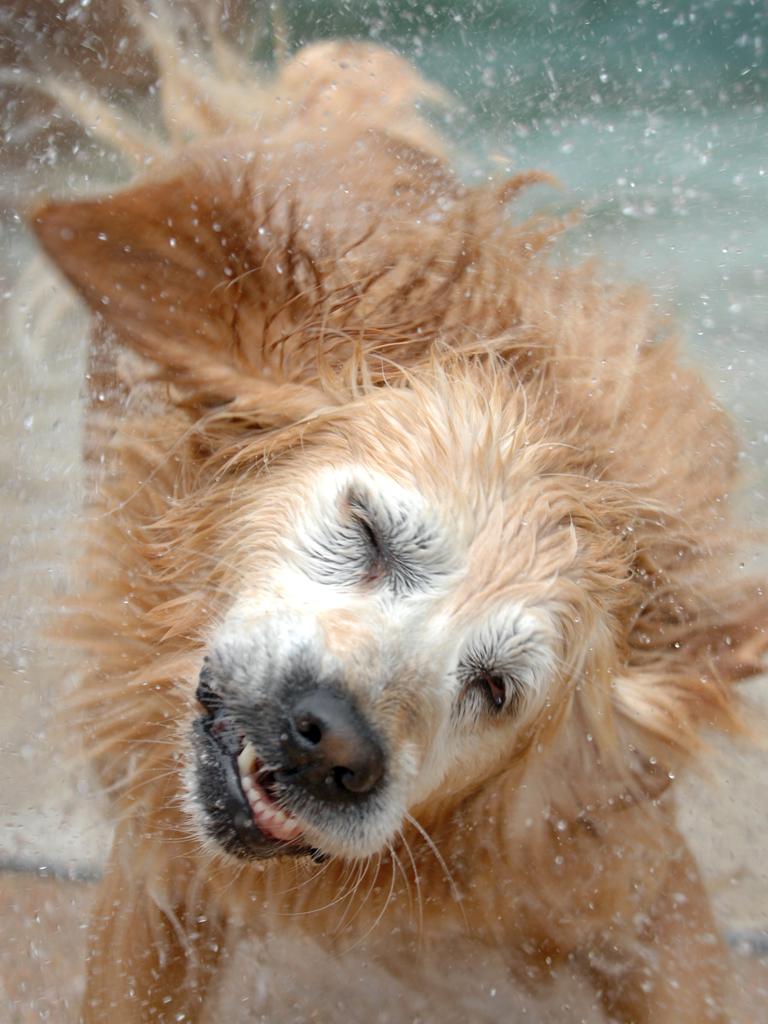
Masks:
[[[290,243],[259,230],[253,180],[248,155],[199,151],[127,189],[45,203],[30,220],[92,310],[185,400],[258,403],[269,389],[274,404],[278,388],[280,418],[295,420],[328,396],[270,362],[265,339],[290,331],[297,293],[311,301],[310,275],[295,258],[284,272]]]

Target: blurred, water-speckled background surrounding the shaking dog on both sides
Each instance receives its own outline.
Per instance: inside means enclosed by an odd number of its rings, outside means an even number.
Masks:
[[[766,524],[765,0],[170,6],[203,40],[215,26],[265,63],[319,38],[380,41],[451,93],[429,113],[468,181],[553,173],[562,189],[538,188],[525,202],[581,210],[563,241],[568,258],[597,255],[674,315],[737,420],[742,501],[751,521]],[[85,327],[37,260],[23,211],[43,194],[128,175],[93,125],[77,124],[41,88],[46,79],[88,86],[151,122],[157,69],[127,9],[0,0],[0,1004],[12,1022],[76,1019],[89,880],[110,836],[87,779],[47,729],[73,668],[45,624],[78,543]],[[760,559],[745,561],[749,569]],[[765,690],[751,687],[756,707],[766,706]],[[682,816],[743,953],[745,1019],[768,1021],[768,757],[725,754],[706,784],[681,787]]]

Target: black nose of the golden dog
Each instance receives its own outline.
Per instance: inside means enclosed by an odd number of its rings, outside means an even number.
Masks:
[[[384,774],[384,752],[351,699],[333,690],[302,694],[281,736],[285,781],[318,800],[364,797]]]

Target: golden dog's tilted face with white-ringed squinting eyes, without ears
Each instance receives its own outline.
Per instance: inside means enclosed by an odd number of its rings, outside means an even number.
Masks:
[[[382,389],[244,484],[188,773],[220,848],[370,855],[562,715],[599,559],[563,445],[505,387]]]

